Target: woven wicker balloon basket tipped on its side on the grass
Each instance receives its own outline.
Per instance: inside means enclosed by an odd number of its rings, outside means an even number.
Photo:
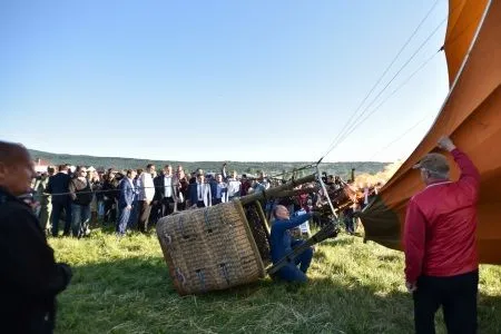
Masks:
[[[239,200],[164,217],[157,223],[157,235],[180,295],[225,289],[265,276]]]

